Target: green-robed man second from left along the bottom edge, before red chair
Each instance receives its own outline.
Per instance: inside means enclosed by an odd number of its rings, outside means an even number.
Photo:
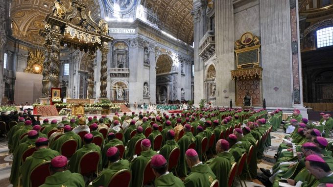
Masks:
[[[129,162],[120,158],[120,152],[117,147],[112,146],[108,148],[102,156],[106,158],[106,162],[109,162],[109,164],[93,181],[93,187],[108,187],[110,179],[115,173],[122,169],[131,171]]]

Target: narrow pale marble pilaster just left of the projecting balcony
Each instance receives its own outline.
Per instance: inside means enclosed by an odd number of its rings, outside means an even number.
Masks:
[[[199,56],[199,42],[205,32],[205,10],[201,0],[194,0],[191,11],[194,21],[194,103],[199,104],[204,98],[204,62]]]

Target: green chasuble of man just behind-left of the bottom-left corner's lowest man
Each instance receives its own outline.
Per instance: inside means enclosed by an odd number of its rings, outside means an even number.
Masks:
[[[20,173],[22,175],[23,187],[29,187],[30,174],[32,170],[45,161],[50,161],[54,157],[59,156],[58,151],[54,151],[50,148],[39,149],[35,151],[30,157],[26,158],[25,162],[20,167]]]

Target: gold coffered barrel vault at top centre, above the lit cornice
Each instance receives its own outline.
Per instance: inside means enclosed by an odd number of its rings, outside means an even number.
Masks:
[[[193,0],[142,0],[146,8],[157,14],[162,30],[188,43],[193,43]]]

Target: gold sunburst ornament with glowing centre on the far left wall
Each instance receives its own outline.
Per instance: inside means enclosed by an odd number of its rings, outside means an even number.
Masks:
[[[40,49],[29,51],[28,62],[24,72],[42,74],[44,53]]]

